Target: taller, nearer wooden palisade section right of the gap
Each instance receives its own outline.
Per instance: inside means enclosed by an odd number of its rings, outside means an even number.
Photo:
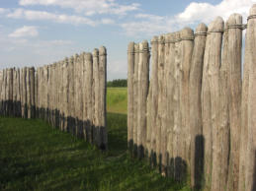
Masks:
[[[243,75],[242,30],[246,29]],[[212,191],[256,190],[256,5],[128,44],[128,147]],[[243,78],[242,78],[243,76]]]

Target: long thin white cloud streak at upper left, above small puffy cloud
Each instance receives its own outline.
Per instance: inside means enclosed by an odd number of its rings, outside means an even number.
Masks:
[[[24,9],[16,9],[14,12],[9,13],[7,15],[8,18],[13,19],[26,19],[31,21],[53,21],[56,23],[64,23],[64,24],[73,24],[73,25],[89,25],[96,26],[96,23],[88,18],[75,16],[75,15],[64,15],[64,14],[52,14],[45,11],[33,11],[33,10],[24,10]]]

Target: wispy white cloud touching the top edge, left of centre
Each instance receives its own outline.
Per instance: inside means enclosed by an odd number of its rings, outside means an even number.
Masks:
[[[126,15],[130,11],[137,10],[139,4],[120,5],[116,0],[20,0],[20,5],[43,5],[71,8],[76,12],[84,12],[85,15],[115,14]]]

